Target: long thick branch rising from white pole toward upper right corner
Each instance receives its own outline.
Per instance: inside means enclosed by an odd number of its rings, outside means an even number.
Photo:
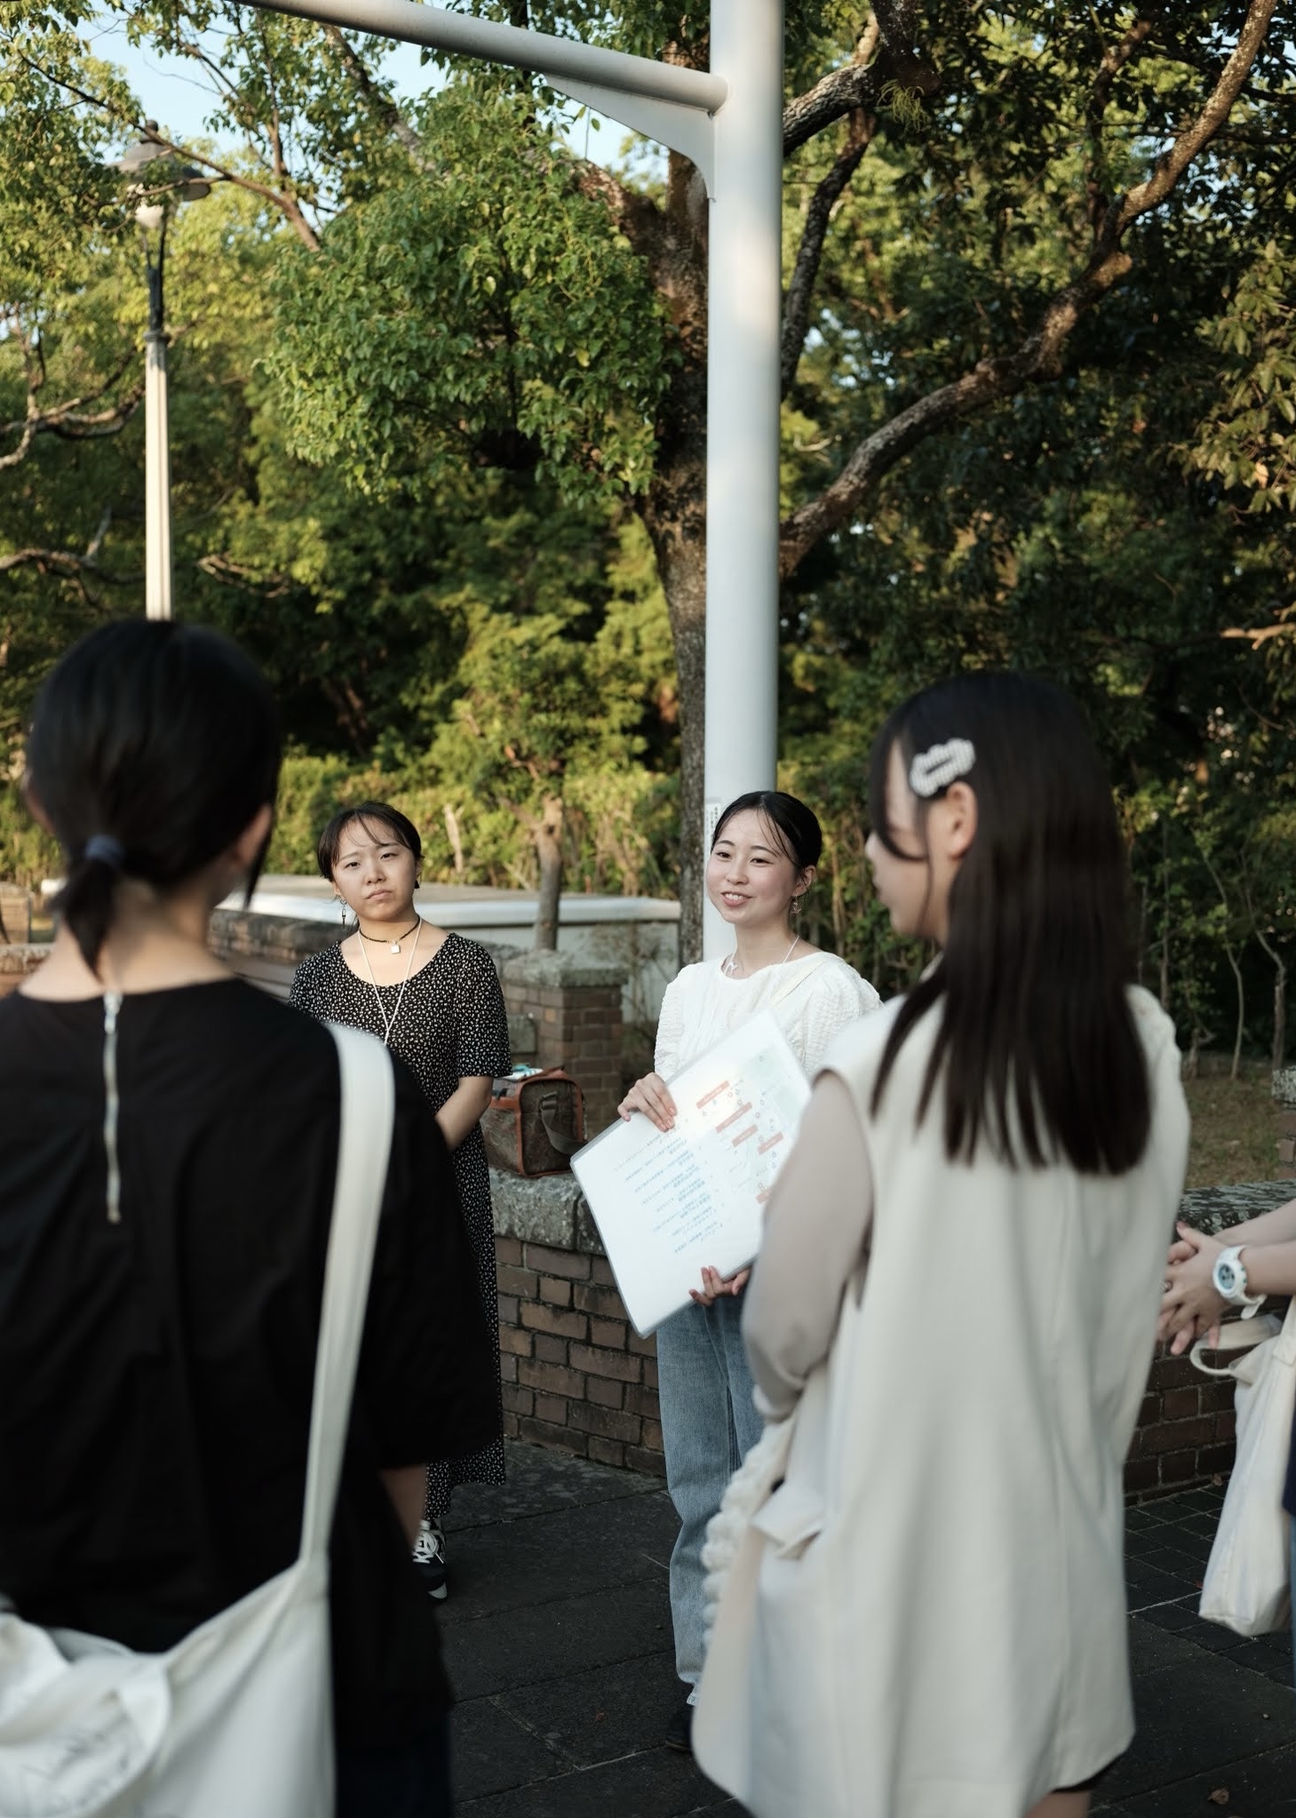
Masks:
[[[1256,60],[1278,0],[1252,0],[1232,56],[1223,65],[1201,111],[1156,160],[1151,176],[1102,211],[1094,247],[1085,269],[1043,311],[1040,327],[1016,353],[980,360],[951,385],[942,385],[900,411],[854,449],[836,480],[783,522],[780,574],[791,574],[802,556],[823,536],[849,522],[878,482],[927,436],[947,429],[960,416],[1012,396],[1040,378],[1060,371],[1062,347],[1076,322],[1123,278],[1132,265],[1122,240],[1136,220],[1160,207],[1192,160],[1211,144],[1229,118],[1247,71]]]

